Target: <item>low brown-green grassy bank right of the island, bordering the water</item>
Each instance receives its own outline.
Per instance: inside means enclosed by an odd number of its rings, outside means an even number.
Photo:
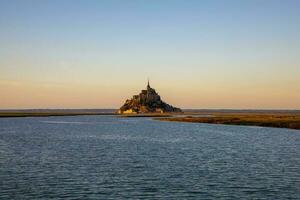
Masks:
[[[216,114],[210,117],[191,115],[163,117],[156,120],[300,129],[300,114]]]

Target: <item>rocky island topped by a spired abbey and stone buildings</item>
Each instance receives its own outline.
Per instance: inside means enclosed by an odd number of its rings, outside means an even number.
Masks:
[[[147,90],[142,90],[139,95],[134,95],[132,99],[127,99],[125,104],[118,110],[119,114],[168,112],[182,111],[180,108],[163,102],[155,89],[150,87],[149,80]]]

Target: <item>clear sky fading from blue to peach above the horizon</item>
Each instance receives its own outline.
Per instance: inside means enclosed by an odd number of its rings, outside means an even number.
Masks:
[[[300,109],[298,0],[0,0],[0,109]]]

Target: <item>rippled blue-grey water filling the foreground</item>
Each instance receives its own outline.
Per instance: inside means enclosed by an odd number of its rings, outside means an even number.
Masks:
[[[0,119],[0,199],[300,199],[300,131]]]

